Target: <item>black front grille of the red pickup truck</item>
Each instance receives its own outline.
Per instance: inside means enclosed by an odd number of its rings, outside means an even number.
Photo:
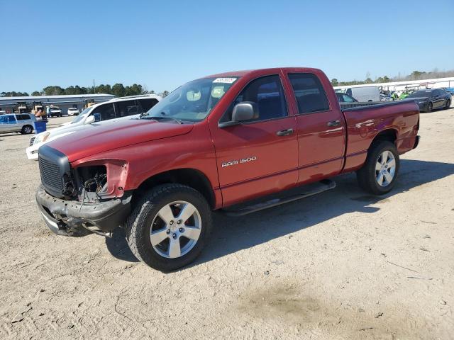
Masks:
[[[43,145],[38,149],[41,183],[51,196],[63,198],[67,195],[68,183],[71,180],[70,162],[65,154]]]

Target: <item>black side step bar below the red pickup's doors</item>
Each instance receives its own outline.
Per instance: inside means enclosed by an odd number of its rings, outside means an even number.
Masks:
[[[281,198],[272,198],[270,200],[258,202],[254,200],[253,202],[241,203],[239,205],[233,205],[230,208],[221,210],[224,215],[231,217],[238,217],[243,215],[248,215],[252,212],[258,212],[267,208],[272,208],[277,205],[293,202],[294,200],[301,200],[301,198],[306,198],[309,196],[314,196],[317,193],[323,193],[323,191],[328,191],[333,188],[336,188],[336,182],[331,181],[331,179],[323,179],[316,183],[307,184],[306,186],[301,186],[291,190],[289,196],[284,196]]]

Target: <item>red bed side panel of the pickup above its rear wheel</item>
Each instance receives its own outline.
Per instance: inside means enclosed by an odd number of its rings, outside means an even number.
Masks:
[[[413,149],[418,133],[419,107],[414,101],[343,111],[347,123],[347,151],[343,172],[354,171],[365,162],[367,149],[380,132],[396,134],[399,154]]]

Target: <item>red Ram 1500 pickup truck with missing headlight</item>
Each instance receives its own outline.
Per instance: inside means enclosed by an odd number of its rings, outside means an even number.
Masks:
[[[125,226],[138,259],[171,271],[200,254],[212,210],[244,215],[331,189],[328,178],[350,171],[365,191],[387,193],[418,130],[414,101],[342,111],[319,69],[216,74],[140,119],[40,147],[36,198],[56,234]]]

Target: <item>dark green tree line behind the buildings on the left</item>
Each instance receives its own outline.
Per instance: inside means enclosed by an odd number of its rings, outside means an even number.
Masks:
[[[139,94],[155,94],[155,91],[148,91],[145,86],[140,84],[132,84],[131,86],[123,86],[123,84],[116,83],[114,85],[101,84],[99,86],[68,86],[63,89],[61,86],[46,86],[41,91],[33,91],[31,95],[27,92],[1,92],[1,97],[21,97],[21,96],[62,96],[66,94],[113,94],[117,97],[124,96],[138,96]],[[163,91],[160,96],[167,96],[168,91]]]

